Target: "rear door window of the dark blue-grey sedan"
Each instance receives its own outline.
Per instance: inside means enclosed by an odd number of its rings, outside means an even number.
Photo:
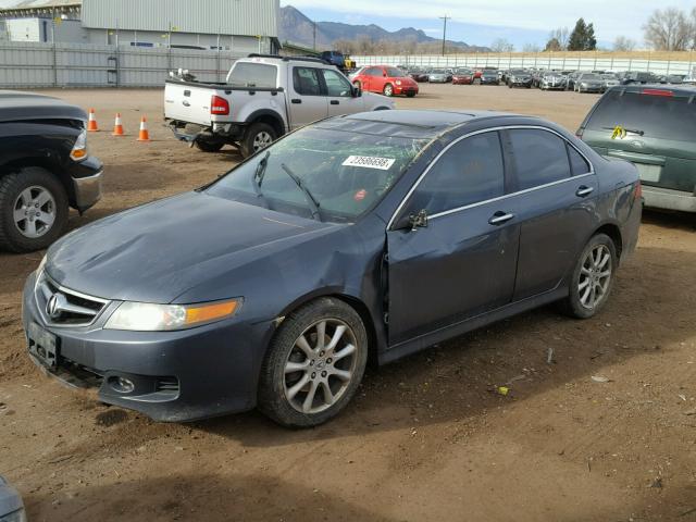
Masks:
[[[518,190],[569,178],[570,162],[566,141],[537,128],[508,132],[517,170]]]

